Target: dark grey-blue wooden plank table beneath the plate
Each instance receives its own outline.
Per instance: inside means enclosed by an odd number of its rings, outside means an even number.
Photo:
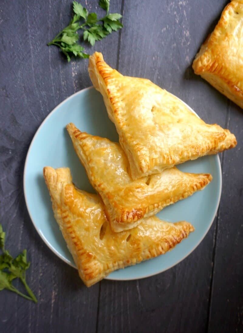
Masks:
[[[98,1],[82,3],[96,10]],[[220,154],[218,213],[193,253],[159,275],[103,280],[88,289],[41,240],[23,193],[27,150],[41,122],[63,99],[91,85],[88,60],[67,63],[56,47],[46,46],[69,22],[71,1],[1,1],[0,223],[12,254],[28,249],[28,282],[38,297],[34,304],[0,292],[1,333],[243,331],[243,112],[191,68],[226,3],[111,0],[124,28],[88,51],[177,95],[207,123],[229,128],[238,145]]]

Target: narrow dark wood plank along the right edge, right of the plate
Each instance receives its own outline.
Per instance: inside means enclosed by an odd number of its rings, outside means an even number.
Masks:
[[[223,156],[222,198],[216,235],[209,332],[243,332],[242,110],[229,102],[228,128],[238,145]]]

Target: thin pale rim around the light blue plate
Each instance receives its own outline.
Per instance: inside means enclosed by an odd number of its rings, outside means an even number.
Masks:
[[[87,91],[87,90],[90,90],[90,89],[94,89],[93,86],[90,86],[90,87],[87,87],[87,88],[84,88],[84,89],[81,89],[79,91],[77,91],[76,93],[68,96],[67,98],[65,98],[61,103],[59,103],[48,115],[47,117],[42,121],[41,125],[38,127],[34,137],[32,138],[31,140],[31,143],[30,143],[30,146],[29,146],[29,149],[28,149],[28,152],[26,154],[26,159],[25,159],[25,165],[24,165],[24,175],[23,175],[23,187],[24,187],[24,197],[25,197],[25,204],[26,204],[26,207],[27,207],[27,210],[28,210],[28,213],[29,213],[29,216],[30,216],[30,219],[37,231],[37,233],[39,234],[39,236],[42,238],[42,240],[44,241],[44,243],[49,247],[49,249],[55,254],[57,255],[61,260],[63,260],[65,263],[67,263],[69,266],[77,269],[77,267],[75,265],[73,265],[69,260],[67,260],[65,257],[63,257],[61,255],[61,253],[59,253],[55,247],[53,247],[53,245],[46,239],[46,237],[43,235],[43,233],[40,231],[40,229],[37,227],[36,223],[34,222],[34,219],[33,219],[33,216],[30,212],[30,209],[29,209],[29,204],[28,204],[28,200],[27,200],[27,194],[26,194],[26,169],[27,169],[27,164],[28,164],[28,159],[29,159],[29,155],[30,155],[30,151],[31,151],[31,148],[34,144],[34,141],[39,133],[39,131],[41,130],[42,126],[46,123],[46,121],[48,121],[48,119],[51,117],[51,115],[59,108],[61,107],[62,104],[64,104],[66,101],[68,101],[69,99],[73,98],[74,96],[76,95],[79,95],[81,93],[83,93],[84,91]],[[177,97],[177,96],[176,96]],[[197,113],[190,107],[188,106],[184,101],[182,101],[179,97],[177,97],[183,104],[185,104],[185,106],[192,112],[194,113],[198,118],[200,118]],[[147,277],[150,277],[150,276],[155,276],[157,274],[160,274],[162,272],[165,272],[167,271],[168,269],[176,266],[179,262],[181,262],[182,260],[184,260],[187,256],[189,256],[195,249],[196,247],[202,242],[202,240],[204,239],[204,237],[206,236],[206,234],[208,233],[208,230],[211,228],[212,226],[212,223],[214,221],[214,218],[217,214],[217,211],[218,211],[218,207],[219,207],[219,203],[220,203],[220,199],[221,199],[221,194],[222,194],[222,169],[221,169],[221,163],[220,163],[220,159],[219,159],[219,156],[218,154],[216,154],[216,161],[217,161],[217,166],[218,166],[218,170],[219,170],[219,195],[218,195],[218,200],[217,200],[217,204],[215,206],[215,210],[213,212],[213,217],[208,225],[208,228],[206,229],[206,231],[204,232],[204,234],[200,237],[199,241],[195,244],[195,246],[184,256],[182,257],[181,259],[179,259],[176,263],[173,263],[171,266],[165,268],[165,269],[162,269],[156,273],[151,273],[151,274],[147,274],[147,275],[143,275],[143,276],[140,276],[139,278],[135,277],[135,278],[112,278],[112,277],[109,277],[106,276],[105,279],[106,280],[114,280],[114,281],[131,281],[131,280],[140,280],[140,279],[144,279],[144,278],[147,278]]]

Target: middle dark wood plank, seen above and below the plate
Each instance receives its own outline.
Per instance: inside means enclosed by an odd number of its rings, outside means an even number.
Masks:
[[[151,79],[188,103],[206,122],[224,127],[227,99],[191,69],[209,24],[221,10],[210,1],[126,0],[119,71]],[[102,281],[98,332],[206,332],[214,237],[215,222],[188,258],[157,276]]]

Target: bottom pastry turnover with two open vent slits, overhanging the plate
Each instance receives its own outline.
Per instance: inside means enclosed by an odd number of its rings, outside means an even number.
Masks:
[[[114,233],[96,194],[74,187],[69,168],[44,168],[55,218],[86,286],[110,272],[164,254],[186,238],[193,226],[145,219],[129,231]]]

